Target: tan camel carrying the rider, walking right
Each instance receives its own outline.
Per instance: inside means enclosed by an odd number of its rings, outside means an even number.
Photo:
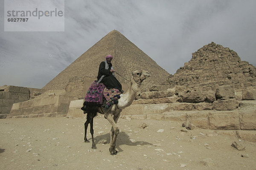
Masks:
[[[131,76],[131,83],[129,85],[128,91],[125,94],[120,95],[120,99],[118,100],[118,103],[111,105],[111,107],[108,109],[107,112],[103,111],[102,106],[97,107],[96,109],[92,108],[91,111],[87,111],[87,120],[84,123],[84,142],[89,142],[86,137],[87,133],[87,127],[90,123],[90,133],[92,136],[92,149],[96,149],[96,144],[94,142],[93,138],[93,118],[97,115],[97,113],[104,114],[105,119],[108,119],[110,124],[112,125],[111,131],[110,131],[110,148],[109,152],[111,155],[115,155],[117,153],[116,151],[116,137],[119,133],[119,127],[116,125],[117,120],[120,116],[120,112],[122,109],[127,108],[131,105],[131,103],[135,99],[135,95],[137,91],[139,91],[140,85],[146,78],[150,77],[150,74],[148,71],[133,71]]]

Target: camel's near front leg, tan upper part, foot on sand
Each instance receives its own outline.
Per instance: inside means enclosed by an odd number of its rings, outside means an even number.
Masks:
[[[112,125],[113,131],[114,131],[114,132],[111,132],[111,133],[114,133],[114,134],[113,134],[113,139],[111,141],[110,148],[109,148],[109,152],[112,155],[114,155],[114,154],[117,153],[117,151],[116,151],[116,137],[119,133],[119,127],[117,127],[116,122],[114,121],[113,116],[110,113],[105,113],[105,117],[108,119],[108,122],[110,122],[110,124]]]

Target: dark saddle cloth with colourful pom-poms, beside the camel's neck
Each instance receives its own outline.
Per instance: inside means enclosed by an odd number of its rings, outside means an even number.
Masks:
[[[104,107],[109,108],[111,105],[118,103],[118,99],[120,99],[120,94],[121,92],[116,88],[104,88],[103,96],[107,100],[106,105]]]

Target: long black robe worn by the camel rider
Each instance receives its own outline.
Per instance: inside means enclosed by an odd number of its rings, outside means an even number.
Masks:
[[[113,76],[113,74],[110,72],[112,64],[108,64],[108,69],[105,69],[105,62],[101,62],[99,65],[99,72],[98,72],[98,81],[102,77],[102,75],[105,75],[103,79],[101,80],[101,83],[103,83],[106,88],[117,88],[119,91],[122,89],[122,85],[120,82],[116,79],[116,77]]]

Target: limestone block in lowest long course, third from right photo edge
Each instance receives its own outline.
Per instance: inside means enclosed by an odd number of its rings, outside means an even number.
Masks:
[[[209,128],[208,116],[209,116],[209,113],[206,113],[206,112],[192,112],[192,113],[188,112],[186,121],[192,123],[196,127],[208,129]]]

